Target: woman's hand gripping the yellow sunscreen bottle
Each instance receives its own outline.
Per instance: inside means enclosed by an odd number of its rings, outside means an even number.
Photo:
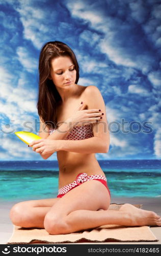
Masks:
[[[40,139],[32,141],[29,146],[33,146],[33,151],[45,157],[45,155],[53,154],[58,151],[57,144],[57,140]]]

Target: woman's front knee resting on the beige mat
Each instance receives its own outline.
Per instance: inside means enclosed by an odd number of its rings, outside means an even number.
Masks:
[[[56,215],[46,214],[44,219],[44,228],[49,234],[67,234],[69,228],[64,218]]]

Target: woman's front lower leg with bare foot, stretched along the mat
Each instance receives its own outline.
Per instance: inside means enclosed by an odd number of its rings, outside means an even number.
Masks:
[[[121,206],[120,210],[76,210],[64,217],[69,232],[116,224],[123,226],[161,226],[161,218],[153,211],[138,209],[131,204]]]

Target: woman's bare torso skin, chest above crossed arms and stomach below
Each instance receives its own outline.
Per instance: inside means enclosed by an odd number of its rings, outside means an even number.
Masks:
[[[66,103],[58,106],[58,123],[68,119],[81,101],[85,102],[83,109],[88,109],[88,100],[85,96],[86,88],[87,87],[84,86],[78,86],[79,90],[77,95]],[[59,163],[59,188],[73,182],[79,173],[104,175],[95,154],[58,151],[57,158]]]

